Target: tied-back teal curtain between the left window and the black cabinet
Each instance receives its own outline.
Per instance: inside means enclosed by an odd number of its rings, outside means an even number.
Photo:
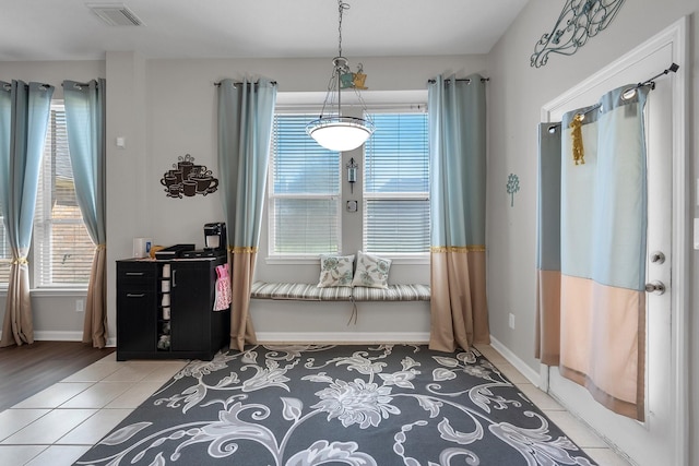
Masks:
[[[85,227],[95,244],[83,342],[92,343],[96,348],[104,348],[107,344],[105,85],[104,79],[90,83],[63,82],[75,194]]]

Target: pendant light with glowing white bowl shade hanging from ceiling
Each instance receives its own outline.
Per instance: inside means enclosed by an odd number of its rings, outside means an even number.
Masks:
[[[356,74],[352,73],[347,59],[342,56],[342,14],[344,10],[350,9],[350,4],[337,0],[337,7],[340,17],[337,26],[339,53],[337,57],[332,59],[333,71],[328,83],[328,93],[325,94],[320,118],[308,123],[306,132],[321,146],[330,151],[342,152],[352,151],[364,144],[374,133],[374,123],[362,118],[342,116],[342,89],[346,87],[354,88],[357,96],[359,96],[358,89],[364,87],[366,75],[362,74],[362,69]],[[360,96],[359,100],[362,101]],[[335,104],[337,110],[333,112],[332,109]],[[327,113],[325,109],[330,113]]]

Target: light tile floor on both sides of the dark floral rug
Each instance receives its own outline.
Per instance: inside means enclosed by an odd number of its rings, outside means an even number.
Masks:
[[[629,466],[489,346],[478,349],[602,466]],[[116,354],[0,413],[0,466],[72,465],[187,361],[117,362]]]

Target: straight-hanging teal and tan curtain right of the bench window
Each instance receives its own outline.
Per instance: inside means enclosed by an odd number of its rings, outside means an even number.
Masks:
[[[486,99],[478,74],[428,85],[430,348],[489,343],[485,286]]]

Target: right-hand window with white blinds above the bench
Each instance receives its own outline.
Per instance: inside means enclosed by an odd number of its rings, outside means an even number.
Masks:
[[[365,144],[365,251],[429,251],[429,155],[426,113],[372,113]]]

